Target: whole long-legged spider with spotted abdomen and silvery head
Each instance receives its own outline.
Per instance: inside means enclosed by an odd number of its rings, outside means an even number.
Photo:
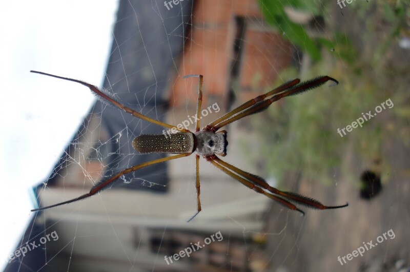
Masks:
[[[201,202],[200,202],[200,197],[199,197],[200,195],[199,157],[200,156],[202,156],[204,159],[212,163],[219,170],[223,171],[227,175],[231,176],[232,178],[236,179],[243,185],[247,186],[249,189],[252,189],[259,194],[265,195],[279,202],[283,206],[290,208],[291,210],[298,211],[302,215],[304,215],[304,212],[302,210],[299,210],[299,208],[296,207],[296,205],[294,205],[291,202],[294,202],[296,204],[301,204],[309,208],[316,208],[319,210],[342,208],[348,205],[348,203],[346,203],[344,205],[339,205],[339,206],[325,206],[313,198],[299,195],[297,193],[280,191],[276,189],[275,187],[270,186],[263,178],[257,175],[245,172],[243,170],[240,170],[239,168],[236,168],[234,165],[221,160],[217,156],[217,155],[219,156],[227,155],[227,145],[228,145],[227,132],[224,130],[218,131],[220,128],[224,127],[225,125],[229,123],[240,120],[243,117],[264,111],[273,102],[281,99],[282,97],[301,94],[305,91],[315,89],[323,85],[325,82],[329,80],[333,81],[333,85],[337,85],[338,81],[330,76],[319,76],[319,77],[313,78],[308,81],[303,81],[303,82],[300,82],[300,79],[296,78],[294,80],[286,82],[283,85],[279,86],[278,88],[268,93],[259,95],[255,97],[254,99],[251,99],[243,103],[241,106],[235,108],[234,110],[212,121],[211,123],[206,125],[206,127],[204,127],[202,130],[200,130],[199,122],[200,122],[201,117],[199,116],[201,113],[201,104],[202,104],[203,76],[202,75],[187,75],[184,78],[198,77],[198,81],[199,81],[197,112],[196,112],[197,114],[195,118],[196,119],[196,122],[195,122],[196,130],[195,130],[195,133],[193,133],[187,129],[174,127],[171,124],[152,119],[128,107],[125,107],[119,102],[117,102],[116,100],[114,100],[112,94],[110,94],[106,90],[103,90],[103,89],[100,90],[94,85],[91,85],[87,82],[80,81],[77,79],[47,74],[43,72],[38,72],[38,71],[30,71],[30,72],[80,83],[81,85],[84,85],[90,88],[91,92],[95,94],[97,98],[103,100],[106,103],[111,103],[115,107],[118,107],[119,109],[125,112],[128,112],[129,114],[132,114],[133,116],[140,118],[142,120],[146,120],[148,122],[161,125],[162,127],[165,127],[165,128],[173,129],[173,132],[174,130],[177,131],[176,133],[172,133],[169,136],[165,134],[159,134],[159,135],[142,134],[140,136],[137,136],[132,141],[133,148],[139,153],[158,152],[158,153],[171,153],[171,154],[177,154],[177,155],[172,155],[169,157],[155,159],[155,160],[151,160],[148,162],[134,165],[131,168],[122,170],[121,172],[115,174],[114,176],[110,177],[107,180],[101,180],[100,182],[96,183],[91,188],[90,192],[87,194],[81,195],[74,199],[59,202],[54,205],[39,207],[39,208],[31,210],[32,212],[46,210],[48,208],[72,203],[72,202],[75,202],[81,199],[91,197],[95,195],[96,193],[99,193],[103,191],[104,189],[106,189],[108,185],[118,180],[118,178],[121,177],[122,175],[137,171],[141,168],[145,168],[147,166],[154,165],[160,162],[165,162],[169,160],[186,157],[186,156],[193,154],[194,152],[195,152],[195,159],[196,159],[197,211],[188,220],[188,222],[191,221],[201,211]]]

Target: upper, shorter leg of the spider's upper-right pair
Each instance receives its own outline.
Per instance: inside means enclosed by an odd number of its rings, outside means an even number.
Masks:
[[[247,101],[247,102],[244,102],[243,104],[241,104],[241,106],[239,106],[239,107],[233,109],[232,111],[230,111],[230,112],[228,112],[228,113],[222,115],[222,116],[219,117],[218,119],[216,119],[216,120],[212,121],[211,123],[209,123],[209,124],[207,125],[207,127],[205,127],[204,130],[207,130],[207,131],[212,130],[212,128],[213,128],[217,123],[220,123],[221,121],[226,120],[226,119],[228,119],[229,117],[231,117],[231,116],[233,116],[233,115],[235,115],[235,114],[237,114],[237,113],[239,113],[239,112],[241,112],[241,111],[243,111],[243,110],[248,109],[249,107],[253,106],[255,103],[264,100],[264,99],[267,98],[268,96],[271,96],[271,95],[273,95],[273,94],[280,93],[280,92],[283,92],[283,91],[285,91],[285,90],[288,90],[289,88],[292,88],[293,86],[297,85],[299,82],[300,82],[300,79],[299,79],[299,78],[296,78],[296,79],[294,79],[294,80],[292,80],[292,81],[283,83],[281,86],[279,86],[278,88],[273,89],[272,91],[269,91],[269,92],[267,92],[267,93],[265,93],[265,94],[259,95],[259,96],[255,97],[255,98],[253,98],[253,99],[250,99],[250,100]]]

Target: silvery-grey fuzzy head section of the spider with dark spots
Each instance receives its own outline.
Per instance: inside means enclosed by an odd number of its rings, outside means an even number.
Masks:
[[[227,155],[227,132],[220,131],[214,133],[212,131],[199,131],[196,136],[196,154],[202,156],[211,156],[214,154],[220,156]]]

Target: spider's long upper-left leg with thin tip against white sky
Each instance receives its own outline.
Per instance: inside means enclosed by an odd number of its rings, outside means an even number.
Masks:
[[[51,77],[55,77],[55,78],[59,78],[59,79],[64,79],[64,80],[68,80],[68,81],[73,81],[73,82],[80,83],[81,85],[87,86],[87,87],[91,90],[91,92],[92,92],[93,94],[96,94],[96,95],[98,95],[99,97],[103,98],[103,101],[108,101],[109,103],[113,104],[115,107],[117,107],[117,108],[119,108],[119,109],[121,109],[121,110],[123,110],[123,111],[125,111],[125,112],[128,112],[129,114],[131,114],[131,115],[133,115],[133,116],[135,116],[135,117],[137,117],[137,118],[139,118],[139,119],[142,119],[142,120],[145,120],[145,121],[154,123],[154,124],[161,125],[161,127],[165,127],[165,128],[169,128],[169,129],[176,129],[176,130],[178,130],[178,131],[180,131],[180,132],[190,132],[189,130],[186,130],[186,129],[183,129],[183,128],[179,129],[179,128],[175,127],[174,125],[167,124],[167,123],[164,123],[164,122],[161,122],[161,121],[152,119],[152,118],[150,118],[150,117],[148,117],[148,116],[145,116],[144,114],[140,114],[139,112],[136,112],[136,111],[134,111],[134,110],[132,110],[132,109],[130,109],[130,108],[128,108],[128,107],[125,107],[125,106],[123,106],[121,103],[115,101],[115,100],[110,96],[110,94],[109,94],[108,92],[101,91],[101,90],[99,90],[96,86],[91,85],[90,83],[87,83],[87,82],[84,82],[84,81],[81,81],[81,80],[77,80],[77,79],[73,79],[73,78],[68,78],[68,77],[63,77],[63,76],[57,76],[57,75],[52,75],[52,74],[48,74],[48,73],[44,73],[44,72],[38,72],[38,71],[30,71],[30,72],[31,72],[31,73],[36,73],[36,74],[41,74],[41,75],[47,75],[47,76],[51,76]]]

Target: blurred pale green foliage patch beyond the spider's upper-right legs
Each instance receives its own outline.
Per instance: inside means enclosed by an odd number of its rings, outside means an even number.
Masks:
[[[323,74],[323,69],[316,66],[311,76],[313,74]],[[297,76],[290,69],[281,77]],[[343,137],[337,129],[352,124],[362,112],[374,112],[375,107],[387,99],[386,93],[379,92],[377,82],[362,81],[360,76],[347,81],[337,78],[342,84],[324,85],[302,95],[287,97],[282,104],[276,103],[261,113],[263,117],[253,117],[252,130],[260,133],[258,141],[267,143],[257,154],[263,157],[269,176],[282,180],[285,173],[302,170],[303,176],[330,184],[332,171],[341,166],[349,147],[354,147],[355,155],[363,160],[378,155],[382,119],[365,122],[363,127]],[[385,116],[392,114],[388,111],[385,110]]]

